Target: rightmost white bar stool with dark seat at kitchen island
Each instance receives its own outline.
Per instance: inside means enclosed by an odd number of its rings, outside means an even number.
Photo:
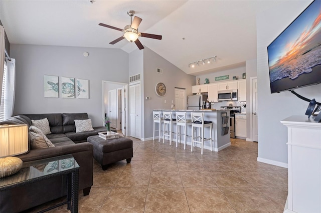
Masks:
[[[204,112],[191,112],[192,115],[192,146],[191,151],[193,151],[193,145],[195,143],[201,144],[201,154],[203,154],[203,147],[204,147],[204,141],[210,140],[211,142],[211,151],[213,151],[212,148],[212,128],[213,128],[213,122],[204,120]],[[210,127],[210,138],[204,138],[204,128]],[[194,128],[199,129],[199,136],[194,135]],[[197,140],[199,138],[199,140]]]

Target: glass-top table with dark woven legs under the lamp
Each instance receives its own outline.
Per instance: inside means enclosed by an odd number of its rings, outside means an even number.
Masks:
[[[79,165],[71,154],[46,159],[24,162],[23,167],[15,174],[0,178],[0,191],[29,184],[53,176],[67,175],[67,201],[47,208],[41,212],[68,204],[67,209],[78,212]],[[21,194],[23,196],[23,194]],[[2,209],[0,208],[0,212]]]

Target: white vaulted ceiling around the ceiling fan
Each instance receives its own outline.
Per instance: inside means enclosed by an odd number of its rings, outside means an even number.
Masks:
[[[199,75],[256,58],[256,12],[275,5],[261,0],[0,0],[0,19],[11,43],[137,49],[126,39],[112,45],[130,24],[128,10],[142,18],[140,32],[162,40],[140,42],[188,74]],[[185,39],[183,39],[183,37]],[[216,62],[188,64],[217,55]]]

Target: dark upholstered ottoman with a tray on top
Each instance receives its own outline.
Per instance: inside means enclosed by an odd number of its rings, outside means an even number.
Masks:
[[[105,140],[98,135],[89,136],[87,141],[94,146],[94,158],[101,164],[103,170],[108,164],[126,159],[130,162],[132,154],[132,140],[121,137]]]

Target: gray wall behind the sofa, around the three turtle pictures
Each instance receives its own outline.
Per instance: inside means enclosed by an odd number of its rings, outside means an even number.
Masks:
[[[88,57],[83,52],[89,53]],[[128,53],[121,49],[11,44],[16,58],[14,114],[87,112],[102,123],[102,80],[128,83]],[[89,80],[89,99],[44,97],[44,75]],[[61,90],[61,87],[60,87]]]

